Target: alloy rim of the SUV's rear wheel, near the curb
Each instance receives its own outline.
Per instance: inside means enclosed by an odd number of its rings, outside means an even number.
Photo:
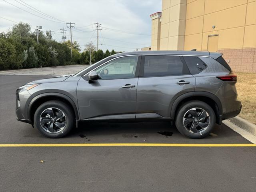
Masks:
[[[210,116],[202,108],[192,108],[183,116],[183,125],[191,133],[202,133],[210,124]]]

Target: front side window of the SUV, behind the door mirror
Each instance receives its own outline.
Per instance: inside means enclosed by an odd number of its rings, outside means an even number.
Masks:
[[[99,79],[133,78],[138,62],[138,56],[128,56],[114,59],[96,69]]]

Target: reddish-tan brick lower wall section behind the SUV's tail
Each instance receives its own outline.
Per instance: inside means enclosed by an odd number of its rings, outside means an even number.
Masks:
[[[256,48],[222,49],[218,52],[223,53],[232,71],[256,73]]]

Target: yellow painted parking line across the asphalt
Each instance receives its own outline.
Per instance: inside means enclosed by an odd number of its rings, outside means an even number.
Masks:
[[[179,143],[69,143],[69,144],[0,144],[0,147],[101,147],[101,146],[160,146],[160,147],[256,147],[256,144],[179,144]]]

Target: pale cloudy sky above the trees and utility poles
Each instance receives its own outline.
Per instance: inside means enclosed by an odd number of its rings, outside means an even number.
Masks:
[[[78,41],[84,49],[84,45],[90,40],[94,45],[97,44],[97,32],[93,30],[96,29],[94,23],[99,22],[102,24],[102,30],[99,32],[99,48],[104,51],[113,48],[116,51],[133,51],[134,48],[150,46],[149,15],[161,11],[162,6],[162,0],[6,1],[0,0],[0,32],[6,31],[15,24],[14,22],[22,21],[29,23],[32,31],[37,25],[42,26],[44,33],[46,30],[54,30],[53,38],[60,42],[62,40],[60,28],[67,30],[66,37],[70,39],[70,29],[67,28],[66,22],[72,22],[76,23],[74,24],[76,28],[72,28],[72,39]],[[51,18],[30,8],[36,8]]]

